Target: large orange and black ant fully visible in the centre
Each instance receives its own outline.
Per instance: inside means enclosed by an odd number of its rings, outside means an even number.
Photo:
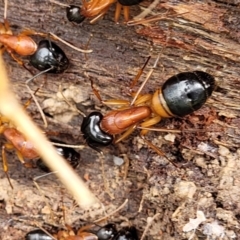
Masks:
[[[98,91],[93,87],[93,82],[91,83],[94,94],[103,104],[119,105],[122,108],[111,110],[106,115],[100,112],[92,112],[83,118],[81,132],[89,147],[101,152],[98,147],[118,143],[128,137],[136,128],[139,128],[141,129],[140,136],[147,145],[160,155],[165,156],[156,146],[145,139],[144,135],[151,130],[163,131],[162,129],[151,128],[151,126],[159,123],[162,118],[184,117],[201,108],[211,96],[215,87],[215,80],[213,76],[203,71],[182,72],[166,80],[154,94],[140,95],[154,68],[156,68],[159,58],[160,55],[158,55],[154,66],[137,93],[134,94],[132,102],[116,99],[103,101]],[[149,58],[143,68],[140,69],[131,88],[139,79],[148,61]],[[122,135],[115,138],[114,136],[117,134]]]

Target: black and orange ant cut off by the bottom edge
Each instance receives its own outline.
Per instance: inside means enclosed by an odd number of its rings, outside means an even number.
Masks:
[[[138,240],[137,230],[134,226],[117,231],[115,225],[109,223],[101,227],[95,234],[84,231],[86,227],[80,228],[76,234],[69,226],[67,228],[67,231],[60,230],[52,235],[41,229],[36,229],[28,232],[25,240]]]

